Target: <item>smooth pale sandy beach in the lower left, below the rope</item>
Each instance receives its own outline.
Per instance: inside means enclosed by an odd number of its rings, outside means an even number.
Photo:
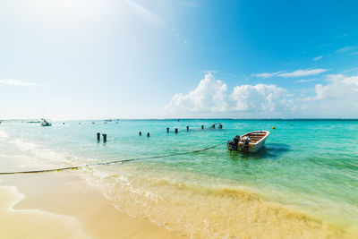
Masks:
[[[76,171],[2,175],[0,180],[4,238],[185,238],[115,209]]]

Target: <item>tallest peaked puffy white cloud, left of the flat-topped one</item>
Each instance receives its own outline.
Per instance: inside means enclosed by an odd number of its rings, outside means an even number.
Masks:
[[[172,112],[222,112],[227,109],[226,89],[226,84],[207,73],[195,90],[175,94],[166,108]]]

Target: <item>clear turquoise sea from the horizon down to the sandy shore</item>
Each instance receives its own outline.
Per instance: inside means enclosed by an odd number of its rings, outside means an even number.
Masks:
[[[224,128],[210,129],[214,123],[222,123]],[[205,129],[201,130],[200,125]],[[189,131],[186,126],[190,126]],[[272,130],[272,126],[276,129]],[[183,234],[235,235],[232,227],[237,226],[236,219],[241,218],[245,225],[247,213],[253,213],[249,208],[254,202],[251,198],[250,205],[241,201],[242,192],[257,195],[260,198],[257,203],[274,203],[294,209],[320,225],[356,232],[358,121],[355,120],[121,120],[107,124],[65,121],[53,122],[51,127],[3,123],[0,149],[6,159],[0,166],[1,171],[35,170],[181,153],[205,149],[232,140],[236,134],[257,130],[271,132],[265,147],[257,154],[229,152],[223,144],[196,154],[90,166],[78,174],[100,188],[118,209],[134,217],[150,218]],[[106,143],[102,139],[97,141],[97,132],[107,133]],[[233,205],[239,204],[245,217],[240,211],[232,212]],[[222,218],[226,222],[220,224],[220,217],[212,214],[213,210],[226,215],[226,219]],[[267,214],[271,221],[277,217]],[[205,223],[194,225],[191,217],[200,217]],[[236,220],[232,224],[227,222],[230,217]],[[281,219],[277,228],[292,220]],[[202,234],[203,225],[207,224]],[[217,228],[214,224],[221,226]],[[265,230],[265,225],[261,226]],[[310,225],[303,225],[302,230],[305,226]]]

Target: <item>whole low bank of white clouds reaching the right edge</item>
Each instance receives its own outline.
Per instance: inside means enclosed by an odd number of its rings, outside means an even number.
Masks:
[[[175,94],[166,107],[182,116],[358,117],[358,75],[330,74],[326,80],[326,84],[316,84],[312,93],[305,90],[311,97],[295,97],[273,84],[244,84],[228,90],[226,83],[207,73],[194,90]],[[306,81],[316,80],[298,82]]]

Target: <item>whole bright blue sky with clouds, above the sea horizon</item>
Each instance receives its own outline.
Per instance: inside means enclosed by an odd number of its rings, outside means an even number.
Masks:
[[[0,119],[358,118],[358,1],[0,0]]]

